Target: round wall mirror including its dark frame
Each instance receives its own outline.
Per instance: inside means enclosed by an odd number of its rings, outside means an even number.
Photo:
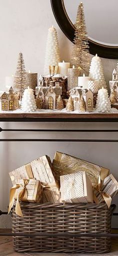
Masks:
[[[73,42],[78,0],[50,0],[55,19]],[[99,57],[118,59],[117,0],[83,0],[89,52]]]

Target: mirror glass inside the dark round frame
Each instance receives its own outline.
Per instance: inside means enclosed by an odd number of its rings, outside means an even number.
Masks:
[[[63,0],[66,13],[75,23],[78,0]],[[117,0],[82,0],[89,39],[94,42],[118,47]]]

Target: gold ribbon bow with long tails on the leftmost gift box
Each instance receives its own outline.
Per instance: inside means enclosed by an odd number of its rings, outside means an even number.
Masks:
[[[23,214],[21,212],[21,208],[19,205],[19,199],[23,200],[23,201],[27,201],[27,189],[26,189],[26,185],[28,184],[29,180],[23,180],[23,185],[21,184],[15,184],[11,189],[10,189],[10,197],[9,197],[9,206],[8,206],[8,213],[10,212],[13,203],[14,203],[14,196],[15,196],[15,191],[16,189],[22,188],[22,190],[20,191],[19,195],[17,196],[17,200],[16,200],[16,205],[15,205],[15,213],[20,216],[23,217]]]

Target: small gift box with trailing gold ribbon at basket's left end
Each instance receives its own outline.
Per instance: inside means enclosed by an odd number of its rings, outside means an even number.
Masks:
[[[13,206],[14,199],[16,199],[15,213],[20,217],[23,217],[19,200],[22,202],[40,203],[42,199],[42,191],[43,189],[39,181],[36,181],[35,179],[20,180],[19,183],[15,184],[10,189],[8,213]]]

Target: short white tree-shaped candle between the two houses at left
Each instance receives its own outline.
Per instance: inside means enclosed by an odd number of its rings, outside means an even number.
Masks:
[[[30,89],[29,87],[23,93],[21,109],[24,112],[36,111],[36,104],[35,104],[35,98],[33,95],[33,90]]]

